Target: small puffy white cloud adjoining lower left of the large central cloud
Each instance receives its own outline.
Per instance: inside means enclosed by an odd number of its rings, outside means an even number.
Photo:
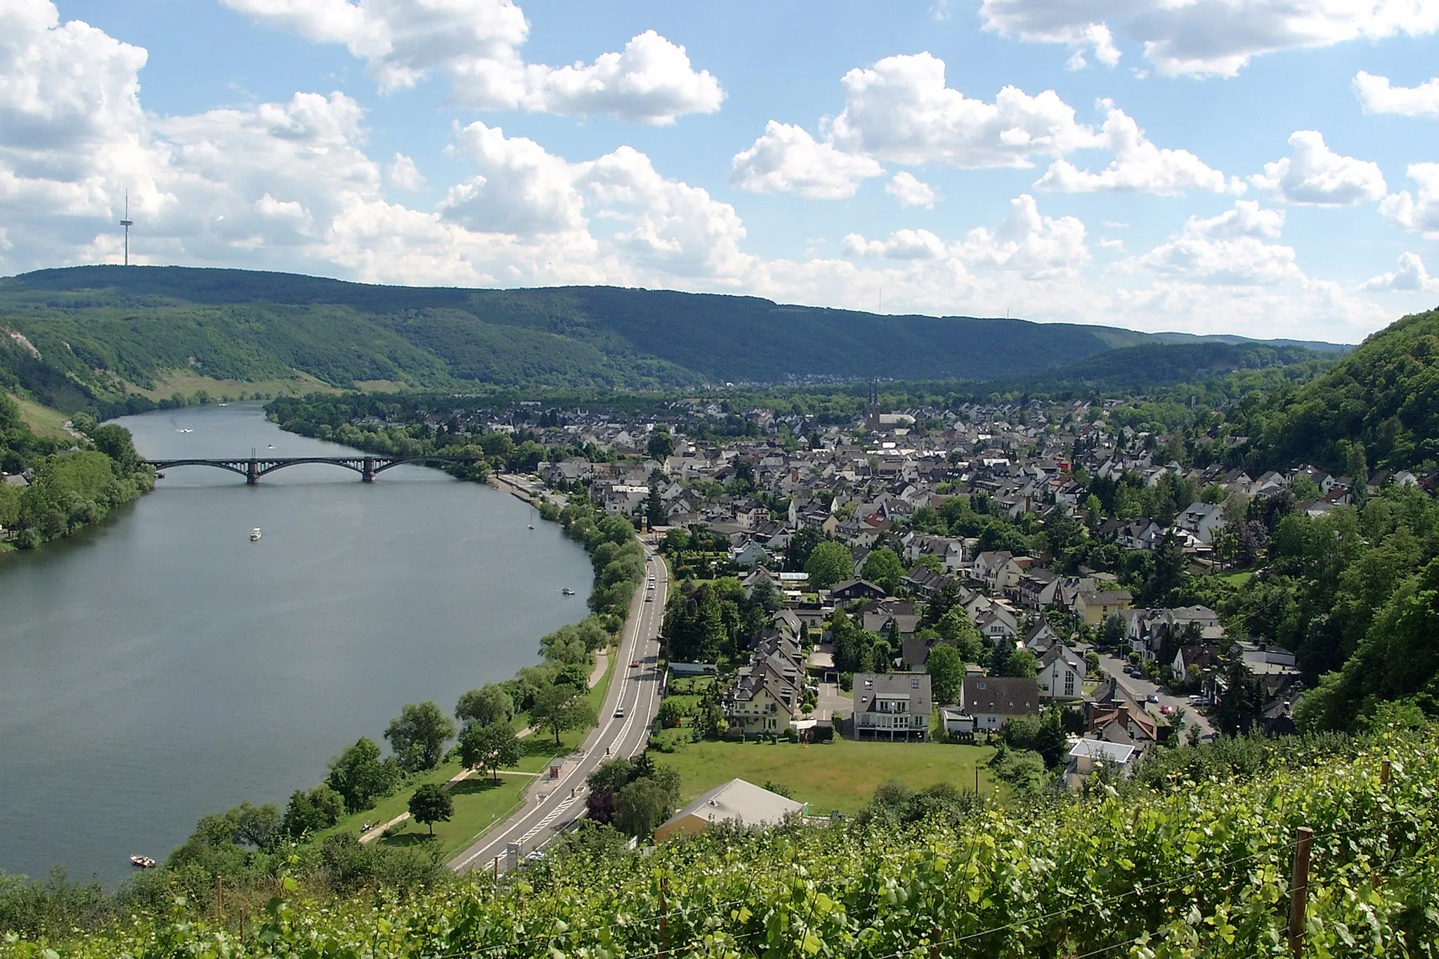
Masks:
[[[803,127],[771,119],[748,150],[734,155],[730,183],[753,193],[797,191],[817,200],[846,200],[861,181],[882,173],[871,157],[836,150]]]

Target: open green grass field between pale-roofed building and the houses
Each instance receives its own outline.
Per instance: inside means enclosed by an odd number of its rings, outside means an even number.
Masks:
[[[976,763],[980,766],[981,792],[990,795],[996,788],[984,765],[994,755],[990,746],[852,739],[813,746],[688,742],[688,729],[668,730],[665,738],[678,740],[679,748],[672,753],[650,753],[650,758],[679,772],[684,802],[738,776],[755,785],[773,781],[787,786],[797,801],[810,804],[812,814],[839,809],[855,815],[869,802],[875,788],[888,779],[915,789],[935,782],[974,788]]]

